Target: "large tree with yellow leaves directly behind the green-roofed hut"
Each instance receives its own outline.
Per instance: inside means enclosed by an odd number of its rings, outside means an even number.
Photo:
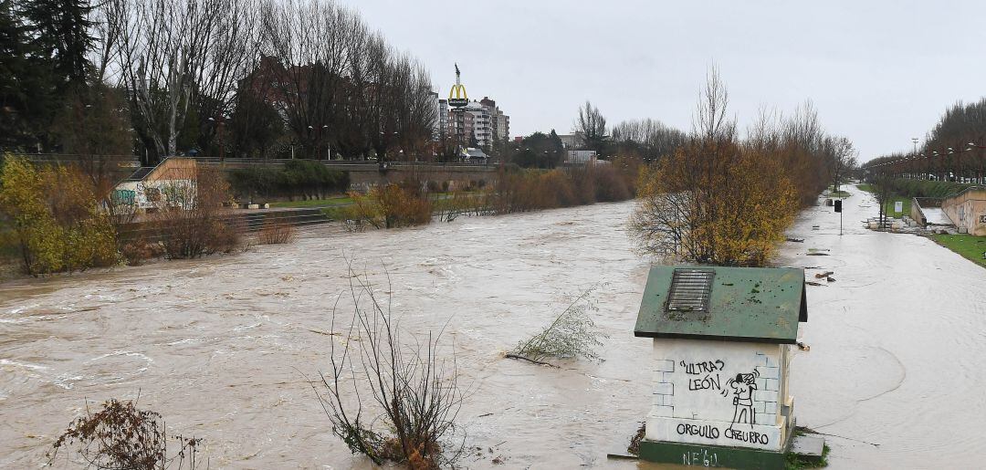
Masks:
[[[776,155],[740,143],[710,74],[688,142],[644,168],[630,227],[641,251],[701,264],[762,266],[799,208]]]

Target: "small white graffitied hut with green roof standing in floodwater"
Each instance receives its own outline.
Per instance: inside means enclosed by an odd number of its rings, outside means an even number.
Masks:
[[[789,348],[805,301],[801,269],[652,268],[634,328],[656,358],[640,457],[783,468],[795,429]]]

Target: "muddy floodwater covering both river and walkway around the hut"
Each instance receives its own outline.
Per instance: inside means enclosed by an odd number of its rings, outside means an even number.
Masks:
[[[975,467],[986,270],[925,238],[857,229],[869,204],[849,200],[841,237],[837,218],[807,211],[791,231],[807,240],[778,259],[837,279],[809,288],[811,351],[792,363],[799,424],[834,435],[831,468]],[[411,332],[448,322],[470,390],[458,421],[473,451],[462,464],[638,468],[605,456],[625,448],[650,406],[650,341],[632,333],[649,261],[627,240],[631,209],[323,228],[236,256],[0,286],[0,467],[42,464],[87,400],[139,394],[170,432],[205,439],[212,468],[369,468],[331,435],[305,378],[328,368],[324,333],[349,260],[378,285],[388,274]],[[809,247],[831,255],[806,256]],[[502,359],[596,285],[604,361]]]

